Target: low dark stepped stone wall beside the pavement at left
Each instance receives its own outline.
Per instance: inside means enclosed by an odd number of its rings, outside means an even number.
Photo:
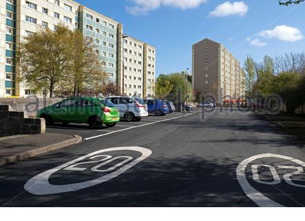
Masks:
[[[24,118],[23,112],[10,111],[0,105],[0,137],[46,133],[46,121],[41,118]]]

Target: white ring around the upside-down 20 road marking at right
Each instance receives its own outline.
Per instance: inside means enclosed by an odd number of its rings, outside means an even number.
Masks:
[[[239,184],[242,186],[242,189],[244,190],[244,193],[255,202],[258,206],[262,207],[284,207],[282,204],[278,204],[277,202],[270,200],[265,195],[257,191],[256,189],[251,186],[246,178],[246,167],[250,162],[253,162],[254,160],[265,158],[265,157],[273,157],[273,158],[281,158],[284,160],[290,160],[291,162],[294,162],[296,164],[299,164],[303,167],[305,167],[305,162],[302,162],[301,160],[297,160],[293,157],[287,157],[284,155],[277,155],[273,153],[265,153],[261,155],[255,155],[253,157],[249,157],[248,159],[241,162],[236,169],[236,175],[237,180]],[[289,175],[290,177],[290,175]],[[287,178],[287,177],[286,177]]]

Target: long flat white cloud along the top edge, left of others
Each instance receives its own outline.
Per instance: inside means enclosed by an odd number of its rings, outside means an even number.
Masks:
[[[149,11],[156,10],[161,6],[170,6],[186,10],[189,8],[197,8],[201,3],[208,0],[131,0],[134,6],[126,7],[126,11],[132,15],[143,15]]]

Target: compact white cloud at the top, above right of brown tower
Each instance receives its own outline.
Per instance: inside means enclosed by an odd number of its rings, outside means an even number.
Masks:
[[[210,12],[212,17],[225,17],[230,15],[244,16],[248,12],[249,7],[244,3],[244,1],[235,1],[230,3],[226,1]]]

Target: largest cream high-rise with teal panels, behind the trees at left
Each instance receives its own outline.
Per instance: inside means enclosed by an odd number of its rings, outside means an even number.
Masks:
[[[15,67],[17,45],[23,37],[37,32],[41,27],[55,30],[58,23],[65,24],[70,30],[79,29],[83,37],[94,42],[94,50],[99,54],[109,80],[121,86],[123,79],[121,23],[71,0],[0,0],[0,17],[0,97],[33,95],[34,91],[25,82],[19,82],[19,70]],[[144,50],[145,46],[142,47]],[[155,52],[155,49],[151,48],[153,47],[150,47],[150,50]],[[145,54],[144,52],[142,54],[144,60]],[[144,64],[144,61],[142,62]],[[155,63],[152,62],[151,65],[155,67]],[[144,67],[141,69],[142,75],[145,74],[144,69]],[[155,74],[155,69],[149,71]],[[144,95],[143,91],[144,89],[141,93]],[[153,94],[149,88],[145,88],[146,91],[148,94]]]

